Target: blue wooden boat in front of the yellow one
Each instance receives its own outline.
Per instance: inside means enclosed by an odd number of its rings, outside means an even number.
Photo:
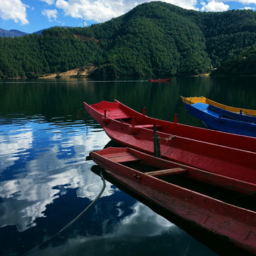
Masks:
[[[190,114],[200,119],[209,129],[256,137],[256,117],[230,112],[202,102],[192,105],[184,102],[184,105]]]

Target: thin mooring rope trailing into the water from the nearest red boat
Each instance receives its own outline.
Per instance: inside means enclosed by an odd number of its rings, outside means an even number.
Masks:
[[[106,182],[105,182],[105,178],[102,175],[102,171],[100,172],[100,176],[103,182],[103,186],[102,189],[100,191],[100,193],[97,195],[97,197],[95,198],[95,200],[92,201],[92,203],[90,203],[89,206],[87,206],[87,208],[85,208],[85,210],[82,210],[82,212],[80,214],[78,214],[77,217],[75,217],[73,220],[70,221],[70,223],[68,223],[67,225],[65,225],[64,228],[62,228],[60,231],[58,231],[58,233],[55,233],[55,235],[52,235],[50,238],[48,238],[46,241],[41,242],[41,244],[37,245],[36,247],[33,247],[31,250],[29,250],[28,252],[26,252],[25,254],[23,254],[23,256],[28,255],[29,253],[33,252],[34,250],[36,250],[38,247],[40,247],[41,245],[43,245],[46,242],[49,242],[51,239],[55,238],[55,236],[60,235],[60,233],[62,233],[64,230],[66,230],[67,228],[70,227],[70,225],[73,225],[73,223],[75,223],[75,221],[77,221],[79,218],[82,217],[82,215],[89,210],[96,202],[97,200],[100,198],[100,196],[102,195],[103,191],[106,188]]]

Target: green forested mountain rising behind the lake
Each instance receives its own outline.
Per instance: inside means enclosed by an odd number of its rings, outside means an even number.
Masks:
[[[0,38],[0,76],[33,78],[85,65],[96,67],[92,76],[197,75],[232,63],[255,43],[255,11],[207,13],[154,1],[86,28]]]

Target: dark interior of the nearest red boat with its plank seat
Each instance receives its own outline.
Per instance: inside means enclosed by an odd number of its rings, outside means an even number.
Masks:
[[[187,188],[191,191],[216,198],[225,203],[256,211],[256,186],[254,184],[251,184],[250,192],[242,191],[242,189],[238,187],[232,188],[230,184],[225,187],[218,182],[211,182],[211,179],[208,181],[205,180],[203,173],[200,178],[200,171],[186,169],[179,164],[170,164],[169,168],[159,166],[158,164],[147,164],[148,161],[146,161],[146,159],[144,161],[129,152],[127,152],[127,156],[123,155],[122,159],[112,159],[112,161],[117,161],[119,164],[127,166],[130,169],[140,171],[149,176],[154,176],[155,178],[181,186],[182,188]],[[213,174],[213,176],[215,176],[215,174]],[[244,185],[246,186],[247,184],[245,183]]]

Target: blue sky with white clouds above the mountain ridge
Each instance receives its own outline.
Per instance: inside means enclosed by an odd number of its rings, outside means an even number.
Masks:
[[[150,0],[0,0],[0,28],[33,33],[51,26],[90,26],[120,16]],[[185,9],[251,9],[256,0],[166,0]]]

